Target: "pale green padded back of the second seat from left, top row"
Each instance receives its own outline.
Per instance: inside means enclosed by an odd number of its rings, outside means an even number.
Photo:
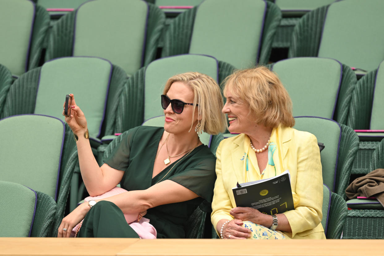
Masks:
[[[148,5],[143,0],[93,0],[76,10],[73,56],[108,59],[133,74],[144,63]]]

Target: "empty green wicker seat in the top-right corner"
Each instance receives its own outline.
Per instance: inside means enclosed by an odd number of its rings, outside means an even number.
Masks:
[[[342,0],[313,10],[295,26],[288,56],[334,58],[350,67],[375,69],[384,58],[383,8],[381,0]]]

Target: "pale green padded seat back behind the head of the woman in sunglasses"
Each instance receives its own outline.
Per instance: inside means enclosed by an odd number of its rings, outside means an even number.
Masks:
[[[205,55],[178,55],[157,59],[145,71],[144,120],[164,114],[160,95],[167,80],[175,74],[200,72],[218,81],[218,61]],[[162,125],[161,125],[162,126]]]

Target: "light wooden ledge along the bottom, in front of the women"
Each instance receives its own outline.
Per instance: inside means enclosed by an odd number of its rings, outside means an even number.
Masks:
[[[383,240],[0,238],[0,255],[382,256]]]

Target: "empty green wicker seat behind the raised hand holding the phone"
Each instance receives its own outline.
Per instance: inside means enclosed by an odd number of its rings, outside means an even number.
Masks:
[[[117,100],[126,81],[125,71],[105,59],[58,58],[23,74],[15,81],[8,92],[2,117],[44,114],[64,121],[61,112],[65,95],[73,93],[76,103],[87,117],[90,143],[97,155],[97,147],[101,145],[99,138],[113,134]],[[75,144],[73,138],[71,142]],[[82,197],[75,189],[79,177],[77,167],[71,185],[71,210]]]

